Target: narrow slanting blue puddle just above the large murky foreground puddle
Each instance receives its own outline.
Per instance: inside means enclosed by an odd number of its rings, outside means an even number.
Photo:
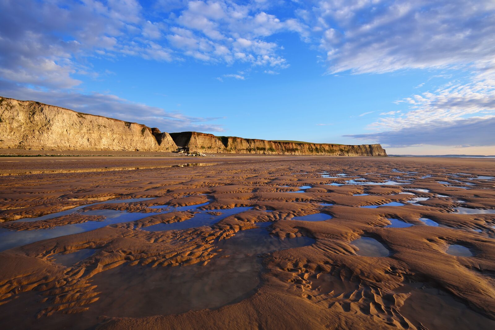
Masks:
[[[143,227],[142,230],[146,231],[162,231],[162,230],[181,230],[181,229],[189,229],[196,228],[201,226],[211,226],[218,221],[237,213],[241,213],[251,209],[251,206],[246,207],[233,207],[227,209],[207,209],[201,210],[199,213],[196,213],[194,217],[191,219],[181,221],[181,222],[172,222],[172,223],[158,223],[156,225]],[[221,215],[211,215],[207,212],[222,212]]]

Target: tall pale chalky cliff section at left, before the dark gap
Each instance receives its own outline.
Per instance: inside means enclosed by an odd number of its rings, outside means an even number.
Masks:
[[[0,148],[176,151],[168,133],[136,123],[0,97]]]

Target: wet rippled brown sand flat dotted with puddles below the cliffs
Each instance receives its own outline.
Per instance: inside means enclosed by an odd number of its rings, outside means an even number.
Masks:
[[[6,329],[495,328],[494,160],[0,159],[34,171],[0,177]]]

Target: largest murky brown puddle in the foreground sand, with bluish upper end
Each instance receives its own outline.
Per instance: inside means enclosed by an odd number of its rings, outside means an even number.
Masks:
[[[248,229],[220,241],[217,247],[222,251],[205,266],[119,266],[93,277],[101,293],[89,312],[144,317],[236,303],[253,295],[261,282],[259,254],[314,242],[307,237],[280,240],[265,229]]]

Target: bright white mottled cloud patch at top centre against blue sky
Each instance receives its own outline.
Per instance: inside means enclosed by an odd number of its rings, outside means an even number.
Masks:
[[[166,38],[185,55],[208,62],[287,68],[287,60],[277,54],[281,46],[264,38],[282,31],[303,34],[304,29],[294,19],[281,21],[261,8],[259,3],[189,1]]]

